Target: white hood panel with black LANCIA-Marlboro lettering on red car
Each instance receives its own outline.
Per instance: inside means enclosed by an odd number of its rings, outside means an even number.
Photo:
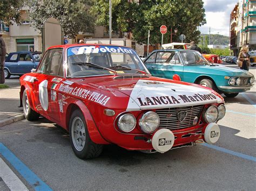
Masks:
[[[132,89],[126,110],[184,107],[217,102],[220,103],[221,98],[208,89],[178,83],[139,80]]]

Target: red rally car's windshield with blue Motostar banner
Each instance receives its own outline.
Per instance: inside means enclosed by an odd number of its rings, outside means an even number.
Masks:
[[[149,74],[138,54],[118,46],[76,46],[68,54],[68,76]]]

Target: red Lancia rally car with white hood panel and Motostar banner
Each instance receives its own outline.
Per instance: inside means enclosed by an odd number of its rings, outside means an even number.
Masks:
[[[152,77],[138,54],[122,46],[50,47],[20,81],[25,118],[42,115],[62,126],[83,159],[98,157],[104,144],[160,153],[213,144],[225,115],[215,91]]]

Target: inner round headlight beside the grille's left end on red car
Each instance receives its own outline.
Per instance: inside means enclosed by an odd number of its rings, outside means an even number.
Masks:
[[[159,116],[153,111],[146,112],[139,120],[140,129],[145,133],[154,132],[158,128],[159,123]]]

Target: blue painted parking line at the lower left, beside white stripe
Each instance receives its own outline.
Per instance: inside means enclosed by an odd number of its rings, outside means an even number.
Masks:
[[[37,190],[52,190],[44,181],[38,178],[26,165],[23,164],[7,147],[0,143],[0,154],[23,176],[30,186]]]

